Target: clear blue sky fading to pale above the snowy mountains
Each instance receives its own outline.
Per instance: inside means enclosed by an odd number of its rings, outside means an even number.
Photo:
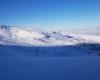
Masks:
[[[43,29],[100,26],[100,0],[0,0],[0,25]]]

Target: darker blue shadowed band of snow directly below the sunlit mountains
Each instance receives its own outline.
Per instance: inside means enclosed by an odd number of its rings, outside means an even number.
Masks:
[[[0,56],[25,57],[67,57],[67,56],[99,56],[100,44],[78,44],[66,46],[12,46],[1,45]]]

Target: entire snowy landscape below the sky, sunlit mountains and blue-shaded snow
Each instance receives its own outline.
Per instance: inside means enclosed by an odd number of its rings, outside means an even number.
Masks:
[[[0,28],[0,80],[100,80],[100,37]]]

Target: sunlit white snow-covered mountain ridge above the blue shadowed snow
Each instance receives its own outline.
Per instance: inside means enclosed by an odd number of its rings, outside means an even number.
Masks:
[[[75,45],[80,43],[100,43],[100,36],[72,34],[61,31],[43,31],[36,28],[0,26],[2,45]]]

